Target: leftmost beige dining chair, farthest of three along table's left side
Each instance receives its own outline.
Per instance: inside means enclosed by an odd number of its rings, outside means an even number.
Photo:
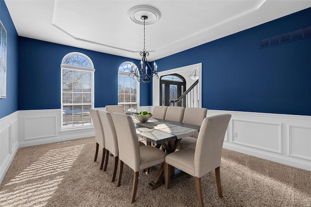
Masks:
[[[89,113],[91,114],[91,118],[92,118],[94,129],[95,129],[96,149],[95,149],[94,162],[97,160],[98,148],[99,146],[101,146],[103,148],[103,156],[102,156],[102,163],[101,163],[100,169],[102,170],[103,165],[104,165],[105,152],[106,152],[103,126],[102,126],[101,119],[98,114],[98,110],[90,109]]]

